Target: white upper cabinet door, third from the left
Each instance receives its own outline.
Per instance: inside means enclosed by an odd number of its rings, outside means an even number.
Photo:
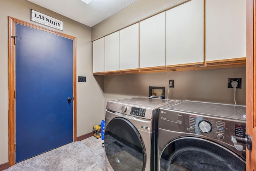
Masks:
[[[120,30],[120,70],[139,68],[139,24]]]

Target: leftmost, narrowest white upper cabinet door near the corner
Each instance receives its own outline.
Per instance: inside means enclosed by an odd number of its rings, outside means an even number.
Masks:
[[[93,72],[105,71],[105,38],[93,42]]]

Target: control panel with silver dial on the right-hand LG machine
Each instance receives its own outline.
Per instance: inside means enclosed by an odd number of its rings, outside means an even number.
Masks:
[[[159,128],[194,133],[234,145],[231,136],[246,137],[246,121],[161,109]]]

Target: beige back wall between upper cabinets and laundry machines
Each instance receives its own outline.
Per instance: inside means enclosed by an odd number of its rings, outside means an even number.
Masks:
[[[148,96],[149,86],[165,87],[167,99],[168,81],[174,80],[169,99],[189,99],[234,104],[233,89],[227,88],[228,78],[242,78],[242,88],[236,89],[236,103],[246,104],[246,69],[224,68],[106,76],[104,78],[105,105],[108,100],[135,96]]]

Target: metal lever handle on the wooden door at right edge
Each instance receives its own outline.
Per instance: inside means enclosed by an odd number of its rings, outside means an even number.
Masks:
[[[245,144],[248,150],[252,150],[252,139],[248,134],[246,134],[245,138],[231,136],[231,141],[234,143],[234,146],[238,151],[243,151],[244,149],[244,147],[239,143]]]

